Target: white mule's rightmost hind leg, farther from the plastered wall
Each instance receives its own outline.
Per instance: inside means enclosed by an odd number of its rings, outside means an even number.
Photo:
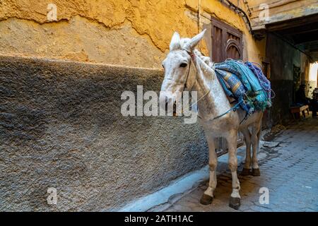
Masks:
[[[257,121],[254,126],[252,126],[252,175],[254,177],[259,177],[261,172],[259,170],[259,162],[257,161],[257,153],[259,152],[259,140],[261,139],[261,120]]]

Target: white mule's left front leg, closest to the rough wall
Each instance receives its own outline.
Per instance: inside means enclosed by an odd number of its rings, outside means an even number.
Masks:
[[[208,141],[208,166],[210,169],[210,181],[208,182],[208,189],[204,191],[200,200],[200,203],[203,205],[211,204],[213,201],[213,191],[216,189],[216,165],[218,163],[214,138],[206,134],[206,140]]]

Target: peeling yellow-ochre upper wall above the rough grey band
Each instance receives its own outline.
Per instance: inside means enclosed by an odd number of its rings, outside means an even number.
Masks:
[[[57,6],[57,21],[47,20],[48,4]],[[0,54],[160,69],[174,31],[199,31],[198,6],[199,0],[3,0]],[[202,0],[201,12],[241,30],[244,59],[261,62],[266,43],[253,40],[241,16],[218,0]],[[205,54],[208,47],[201,44]]]

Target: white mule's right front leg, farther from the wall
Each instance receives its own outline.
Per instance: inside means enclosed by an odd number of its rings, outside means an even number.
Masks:
[[[237,210],[241,204],[240,182],[237,178],[237,131],[231,131],[226,139],[228,141],[228,167],[232,173],[232,194],[229,206]]]

